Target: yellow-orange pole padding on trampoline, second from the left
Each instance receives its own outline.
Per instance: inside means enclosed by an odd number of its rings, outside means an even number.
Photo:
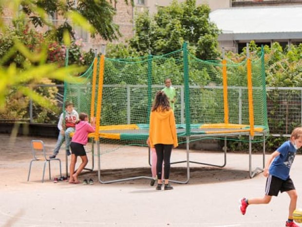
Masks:
[[[104,69],[105,69],[105,56],[101,56],[98,71],[98,89],[97,89],[97,104],[96,104],[96,118],[95,118],[95,136],[94,141],[99,139],[99,127],[101,119],[101,105],[103,98],[103,81],[104,81]]]

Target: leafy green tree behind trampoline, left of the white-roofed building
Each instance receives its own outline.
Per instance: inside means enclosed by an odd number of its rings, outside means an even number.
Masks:
[[[208,5],[196,6],[196,0],[173,0],[169,6],[158,8],[153,17],[148,12],[139,13],[130,46],[141,54],[151,51],[153,55],[162,55],[181,49],[187,41],[196,57],[215,59],[219,56],[220,30],[209,21],[209,13]]]

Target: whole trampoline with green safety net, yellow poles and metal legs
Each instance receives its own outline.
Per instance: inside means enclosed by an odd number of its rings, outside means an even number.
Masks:
[[[190,163],[224,167],[227,140],[238,136],[248,137],[249,176],[252,178],[263,171],[265,136],[269,133],[263,49],[257,58],[246,58],[240,63],[197,59],[189,53],[186,43],[182,49],[163,56],[109,59],[102,55],[94,59],[81,77],[83,83],[65,84],[64,101],[72,101],[78,112],[90,113],[96,118],[96,132],[89,135],[92,144],[89,149],[92,169],[94,157],[97,157],[100,183],[152,179],[151,176],[134,176],[104,181],[101,157],[125,146],[145,146],[147,150],[152,101],[156,91],[163,88],[158,82],[169,77],[178,81],[173,83],[177,89],[174,115],[177,137],[186,144],[185,160],[171,164],[186,163],[187,167],[185,181],[170,181],[188,183]],[[215,137],[224,140],[222,165],[189,159],[192,141]],[[263,137],[263,164],[256,168],[252,168],[254,137]],[[111,151],[107,152],[106,146],[111,146]],[[150,150],[148,157],[150,164]]]

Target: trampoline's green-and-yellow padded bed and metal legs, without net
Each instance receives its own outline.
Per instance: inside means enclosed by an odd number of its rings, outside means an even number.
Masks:
[[[176,124],[177,128],[177,137],[179,139],[183,138],[186,140],[186,153],[187,159],[184,161],[171,162],[171,164],[179,164],[179,163],[187,163],[187,179],[185,181],[177,181],[170,180],[173,183],[179,184],[187,184],[189,182],[190,174],[189,174],[189,163],[200,164],[200,165],[210,165],[216,167],[224,167],[227,165],[227,137],[234,137],[240,135],[249,135],[250,134],[250,126],[244,124],[191,124],[190,137],[186,136],[186,125],[185,124]],[[267,127],[264,125],[255,125],[254,127],[256,136],[262,136],[263,139],[263,165],[260,167],[256,167],[252,169],[252,139],[249,136],[249,176],[250,178],[254,177],[257,173],[263,171],[265,166],[265,136],[268,133]],[[136,140],[144,140],[146,141],[149,136],[149,124],[129,124],[129,125],[106,125],[100,126],[99,128],[99,137],[102,139],[111,139],[111,140],[120,140],[120,141],[136,141]],[[189,139],[191,138],[203,138],[208,136],[218,136],[225,138],[224,142],[224,161],[222,165],[214,165],[203,162],[195,162],[189,160]],[[95,133],[89,134],[90,138],[95,137]],[[98,144],[98,146],[102,146],[102,144]],[[97,151],[98,157],[98,179],[100,183],[108,184],[115,183],[127,180],[135,180],[135,179],[152,179],[149,176],[137,176],[130,177],[125,179],[117,179],[111,181],[103,181],[101,179],[101,153],[98,149]],[[150,151],[148,152],[149,156],[149,164],[150,164]],[[94,155],[93,155],[94,157]],[[94,160],[93,160],[94,163]]]

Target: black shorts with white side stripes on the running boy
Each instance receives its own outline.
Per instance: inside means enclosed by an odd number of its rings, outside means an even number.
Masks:
[[[296,188],[294,186],[294,183],[290,179],[290,177],[288,177],[288,179],[284,181],[269,174],[266,180],[265,195],[278,196],[279,191],[281,191],[282,193],[283,191],[290,191],[295,189]]]

